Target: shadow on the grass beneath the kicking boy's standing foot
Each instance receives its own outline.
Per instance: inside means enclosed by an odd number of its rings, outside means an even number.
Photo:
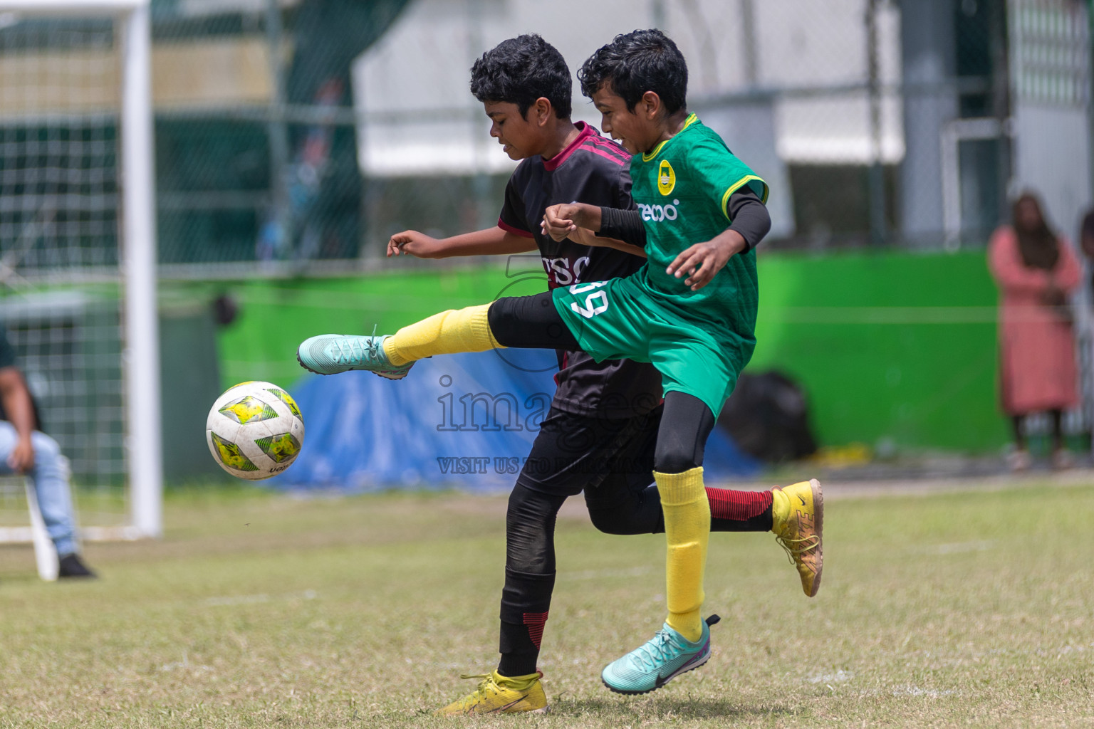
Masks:
[[[556,698],[551,702],[554,716],[586,716],[602,719],[719,719],[749,716],[792,716],[801,708],[784,706],[745,706],[725,698]]]

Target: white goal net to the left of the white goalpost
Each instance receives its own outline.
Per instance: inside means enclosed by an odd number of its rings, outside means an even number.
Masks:
[[[124,526],[128,498],[119,57],[109,15],[0,13],[0,325],[38,428],[60,445],[98,528]],[[73,280],[86,287],[63,285]],[[0,526],[27,522],[18,486],[3,490]]]

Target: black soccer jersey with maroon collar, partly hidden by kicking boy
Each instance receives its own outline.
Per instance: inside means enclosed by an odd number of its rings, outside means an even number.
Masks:
[[[614,248],[558,243],[539,227],[547,208],[585,202],[635,210],[630,199],[630,154],[583,121],[578,139],[549,160],[536,155],[521,162],[505,187],[498,225],[535,238],[550,289],[586,281],[627,277],[645,262]],[[551,404],[563,412],[602,418],[641,415],[661,402],[661,375],[651,364],[629,360],[597,363],[584,352],[558,350]]]

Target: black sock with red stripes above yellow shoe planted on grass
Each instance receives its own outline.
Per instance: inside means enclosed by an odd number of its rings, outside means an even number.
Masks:
[[[498,673],[508,677],[536,672],[539,644],[550,610],[555,573],[533,575],[505,567],[501,592],[501,660]]]

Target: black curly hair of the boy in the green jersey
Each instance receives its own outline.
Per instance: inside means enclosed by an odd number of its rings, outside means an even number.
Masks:
[[[602,86],[627,103],[633,111],[642,94],[652,91],[665,110],[687,107],[687,62],[673,39],[656,28],[621,33],[601,46],[578,71],[581,93],[590,98]]]

